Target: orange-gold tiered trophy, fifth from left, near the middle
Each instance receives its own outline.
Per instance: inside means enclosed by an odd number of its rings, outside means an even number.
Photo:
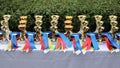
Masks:
[[[71,40],[70,34],[72,33],[73,26],[72,24],[72,16],[66,16],[66,20],[64,21],[65,23],[65,34],[66,36]]]

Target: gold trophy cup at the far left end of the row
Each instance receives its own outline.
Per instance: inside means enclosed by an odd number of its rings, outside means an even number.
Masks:
[[[3,15],[3,21],[1,21],[1,30],[3,32],[3,41],[8,41],[9,40],[9,33],[10,33],[10,29],[9,29],[9,19],[10,19],[11,15]]]

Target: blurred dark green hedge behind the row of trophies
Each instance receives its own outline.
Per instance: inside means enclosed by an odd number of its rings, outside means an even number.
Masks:
[[[58,30],[64,32],[66,15],[73,16],[73,32],[80,29],[78,15],[87,15],[89,31],[94,31],[94,15],[103,15],[104,31],[110,30],[109,15],[117,15],[120,21],[120,0],[0,0],[0,20],[4,14],[11,14],[9,27],[12,31],[18,31],[19,18],[28,16],[27,30],[34,31],[34,15],[43,15],[42,31],[49,31],[51,15],[60,15]],[[118,24],[120,27],[120,24]],[[120,30],[119,30],[120,31]]]

